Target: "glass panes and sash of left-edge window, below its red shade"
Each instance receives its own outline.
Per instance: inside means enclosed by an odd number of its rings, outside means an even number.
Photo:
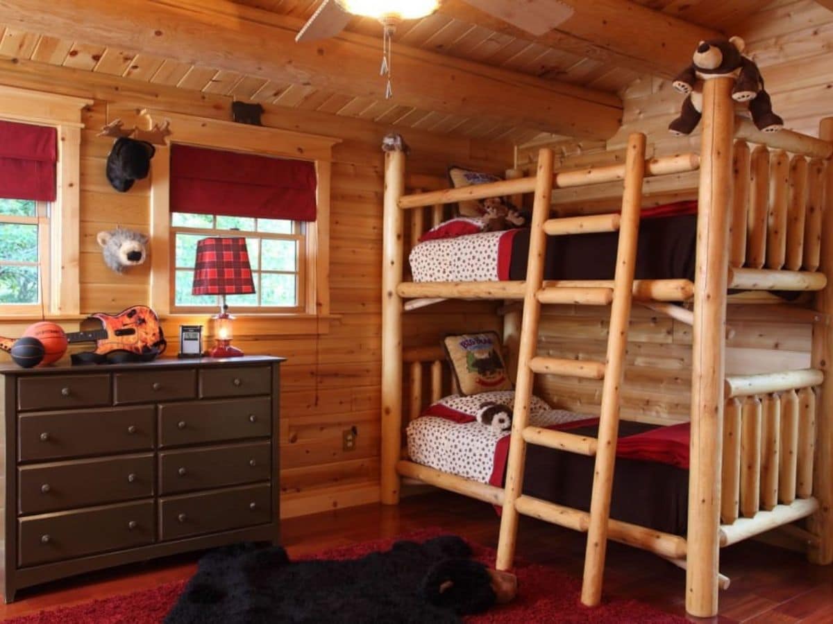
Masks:
[[[47,308],[48,267],[47,202],[0,198],[0,305]]]

